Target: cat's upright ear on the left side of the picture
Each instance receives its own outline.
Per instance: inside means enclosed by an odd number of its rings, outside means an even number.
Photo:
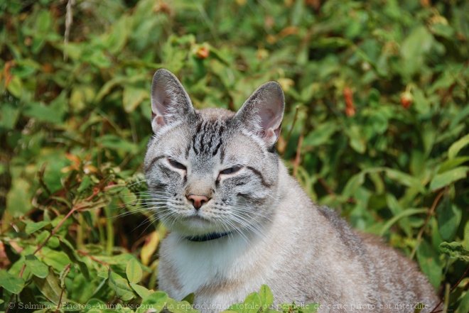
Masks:
[[[157,133],[161,127],[194,114],[192,102],[178,78],[165,69],[153,75],[151,82],[151,128]]]

